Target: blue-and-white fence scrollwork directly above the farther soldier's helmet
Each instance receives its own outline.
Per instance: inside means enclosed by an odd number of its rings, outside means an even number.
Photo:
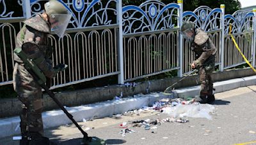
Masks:
[[[204,31],[220,29],[221,9],[211,9],[208,6],[200,6],[195,11],[184,11],[183,21],[195,23],[195,27]]]

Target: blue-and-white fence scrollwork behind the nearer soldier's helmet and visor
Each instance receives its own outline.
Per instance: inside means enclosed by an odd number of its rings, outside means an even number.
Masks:
[[[41,0],[31,0],[31,11],[32,16],[36,13],[40,13],[44,10],[44,6]],[[72,18],[68,29],[100,26],[100,25],[111,25],[116,24],[116,5],[117,0],[109,1],[84,1],[84,0],[73,0],[62,4],[72,12]]]

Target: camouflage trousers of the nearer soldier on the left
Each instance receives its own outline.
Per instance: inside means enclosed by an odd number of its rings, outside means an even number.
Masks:
[[[22,135],[29,133],[44,134],[42,121],[42,88],[33,80],[29,72],[20,64],[13,70],[13,86],[22,102],[20,113],[20,131]]]

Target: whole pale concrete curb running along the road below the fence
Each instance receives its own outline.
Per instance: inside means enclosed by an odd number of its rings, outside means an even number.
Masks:
[[[256,76],[246,78],[230,79],[214,83],[216,92],[223,92],[239,88],[241,86],[256,85]],[[200,86],[193,86],[179,90],[173,90],[174,97],[193,97],[198,95]],[[77,121],[90,118],[103,118],[113,114],[124,113],[132,109],[139,109],[143,106],[151,106],[157,100],[163,98],[173,98],[172,94],[152,93],[148,95],[137,95],[136,97],[125,98],[122,100],[109,100],[87,106],[68,107],[68,111]],[[48,111],[43,114],[44,127],[58,127],[71,123],[61,110]],[[0,120],[0,137],[7,137],[19,134],[19,117],[4,118]]]

